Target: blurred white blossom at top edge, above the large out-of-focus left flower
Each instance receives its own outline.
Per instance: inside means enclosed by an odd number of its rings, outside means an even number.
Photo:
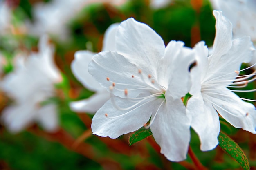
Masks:
[[[33,8],[34,23],[29,26],[29,33],[52,34],[60,39],[69,35],[68,22],[86,5],[89,0],[52,0],[40,2]]]

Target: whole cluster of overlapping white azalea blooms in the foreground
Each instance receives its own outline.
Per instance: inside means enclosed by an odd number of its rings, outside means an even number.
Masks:
[[[242,90],[227,88],[254,81],[255,73],[239,74],[245,70],[240,70],[241,64],[252,60],[255,49],[249,36],[232,36],[232,24],[221,11],[213,15],[216,37],[211,55],[204,42],[193,49],[180,41],[165,46],[153,29],[133,18],[112,25],[103,41],[108,48],[96,55],[89,51],[75,55],[75,76],[96,94],[71,103],[71,108],[98,110],[92,132],[103,137],[117,138],[150,127],[161,153],[171,161],[186,159],[190,127],[200,138],[201,150],[215,148],[219,115],[234,127],[256,134],[254,105],[234,94]],[[192,97],[185,106],[182,99],[187,93]]]

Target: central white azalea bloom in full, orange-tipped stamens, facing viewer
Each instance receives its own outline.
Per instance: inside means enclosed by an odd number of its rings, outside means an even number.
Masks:
[[[117,138],[150,126],[161,153],[184,160],[191,120],[181,97],[190,89],[194,52],[179,41],[165,47],[153,29],[133,18],[121,22],[115,40],[115,52],[101,52],[89,64],[89,73],[112,94],[92,119],[93,134]]]

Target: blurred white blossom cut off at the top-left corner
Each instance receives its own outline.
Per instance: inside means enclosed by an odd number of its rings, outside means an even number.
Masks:
[[[0,34],[4,34],[10,29],[11,24],[11,9],[8,7],[7,2],[0,1]]]

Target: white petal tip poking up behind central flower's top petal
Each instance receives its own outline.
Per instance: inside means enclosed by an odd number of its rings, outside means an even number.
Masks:
[[[115,51],[115,36],[117,33],[117,27],[120,23],[112,24],[108,27],[103,38],[102,51]]]

